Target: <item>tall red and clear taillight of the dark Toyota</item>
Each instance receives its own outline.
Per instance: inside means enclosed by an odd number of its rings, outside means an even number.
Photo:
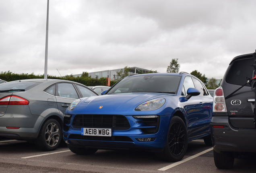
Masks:
[[[213,112],[227,112],[226,101],[222,87],[214,91]]]

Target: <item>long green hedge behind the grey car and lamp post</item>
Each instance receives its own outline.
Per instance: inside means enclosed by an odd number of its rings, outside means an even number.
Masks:
[[[17,74],[17,73],[13,73],[13,72],[1,72],[0,73],[0,79],[2,80],[6,80],[6,81],[12,81],[12,80],[22,80],[22,79],[31,79],[31,78],[44,78],[44,75],[35,75],[34,73],[32,74],[28,74],[28,73],[21,73],[21,74]],[[63,77],[57,77],[57,76],[51,76],[48,75],[47,78],[51,78],[51,79],[64,79],[64,80],[71,80],[74,82],[78,82],[81,84],[84,84],[86,86],[97,86],[97,85],[106,85],[106,78],[91,78],[88,76],[81,76],[81,77],[74,77],[72,75],[70,76],[63,76]],[[115,84],[117,81],[110,81],[110,86],[112,86],[113,84]]]

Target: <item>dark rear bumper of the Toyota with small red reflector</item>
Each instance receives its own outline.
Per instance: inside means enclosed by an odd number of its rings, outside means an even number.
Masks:
[[[213,149],[217,153],[256,153],[256,129],[236,129],[229,124],[227,116],[213,117],[210,125]]]

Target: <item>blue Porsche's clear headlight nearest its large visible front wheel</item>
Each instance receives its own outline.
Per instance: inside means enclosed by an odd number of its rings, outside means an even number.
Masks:
[[[135,108],[135,111],[153,111],[161,108],[163,104],[165,104],[165,99],[153,99],[138,105],[138,107]]]

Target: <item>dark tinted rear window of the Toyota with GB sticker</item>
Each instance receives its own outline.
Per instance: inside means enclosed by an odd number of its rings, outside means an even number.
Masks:
[[[225,80],[227,83],[244,85],[248,78],[253,77],[254,59],[236,60],[230,64]]]

